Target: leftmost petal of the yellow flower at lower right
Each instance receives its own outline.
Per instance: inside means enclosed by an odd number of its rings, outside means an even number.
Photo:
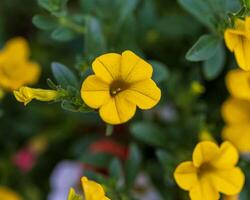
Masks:
[[[176,168],[174,178],[183,190],[190,190],[198,183],[197,168],[190,161],[183,162]]]

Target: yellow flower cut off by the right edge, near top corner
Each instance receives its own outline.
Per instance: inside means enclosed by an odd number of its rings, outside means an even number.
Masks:
[[[243,70],[250,70],[250,17],[237,19],[234,28],[226,29],[224,38],[228,49],[234,52],[237,63]]]

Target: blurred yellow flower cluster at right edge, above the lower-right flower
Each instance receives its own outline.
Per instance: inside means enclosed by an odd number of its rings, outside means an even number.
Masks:
[[[222,116],[226,122],[222,136],[242,153],[250,152],[249,80],[250,72],[230,71],[226,77],[226,85],[231,97],[222,106]]]

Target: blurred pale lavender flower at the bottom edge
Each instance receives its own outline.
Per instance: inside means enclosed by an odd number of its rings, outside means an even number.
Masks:
[[[67,199],[69,189],[78,185],[82,171],[79,163],[73,161],[58,163],[50,177],[52,191],[48,196],[48,200]]]

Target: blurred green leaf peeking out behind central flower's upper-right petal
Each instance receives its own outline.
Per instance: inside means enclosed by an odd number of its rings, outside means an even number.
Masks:
[[[153,80],[155,80],[157,83],[161,83],[167,80],[169,71],[165,64],[156,60],[151,60],[149,61],[149,63],[153,66],[154,69]]]

